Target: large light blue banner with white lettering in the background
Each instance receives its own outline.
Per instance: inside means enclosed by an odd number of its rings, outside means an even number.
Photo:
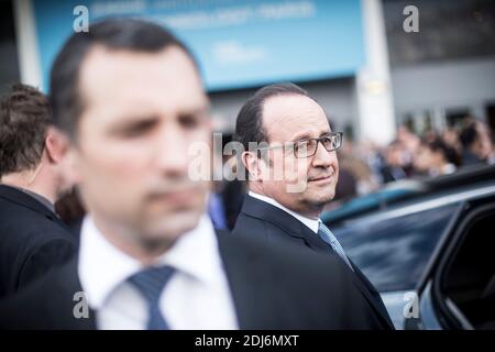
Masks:
[[[169,28],[200,63],[209,91],[350,76],[364,63],[360,0],[33,0],[44,88],[73,33],[89,21],[143,18]]]

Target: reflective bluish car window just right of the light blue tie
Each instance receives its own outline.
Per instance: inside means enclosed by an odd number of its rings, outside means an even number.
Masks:
[[[378,292],[414,289],[458,207],[328,227]]]

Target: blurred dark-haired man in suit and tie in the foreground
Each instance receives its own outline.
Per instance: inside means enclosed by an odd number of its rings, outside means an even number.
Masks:
[[[189,169],[209,170],[190,153],[211,147],[209,102],[168,31],[114,19],[73,34],[51,99],[88,216],[78,257],[0,304],[1,327],[383,328],[336,258],[215,232],[210,182]]]

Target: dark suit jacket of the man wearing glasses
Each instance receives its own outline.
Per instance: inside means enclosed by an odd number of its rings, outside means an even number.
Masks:
[[[302,222],[286,211],[251,196],[246,196],[244,199],[232,234],[257,237],[276,245],[280,242],[287,242],[298,248],[307,248],[317,253],[334,256],[343,263],[338,254]],[[354,272],[349,270],[346,265],[344,266],[350,275],[352,275],[355,285],[370,302],[369,309],[371,308],[374,311],[384,327],[393,329],[392,320],[380,294],[352,261],[351,264]]]

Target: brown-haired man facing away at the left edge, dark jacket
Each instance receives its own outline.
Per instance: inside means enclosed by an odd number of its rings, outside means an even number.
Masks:
[[[70,187],[47,98],[13,85],[0,109],[0,297],[16,293],[76,252],[55,213]]]

